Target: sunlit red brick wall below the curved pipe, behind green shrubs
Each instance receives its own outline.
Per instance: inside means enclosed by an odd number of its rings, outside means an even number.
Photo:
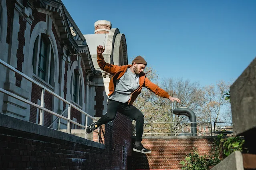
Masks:
[[[212,139],[142,139],[145,148],[152,151],[151,154],[133,152],[129,158],[129,170],[136,169],[171,169],[180,170],[179,162],[184,160],[193,147],[198,148],[200,155],[208,155],[213,144]]]

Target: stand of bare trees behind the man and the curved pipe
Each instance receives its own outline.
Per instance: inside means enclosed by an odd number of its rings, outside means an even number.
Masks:
[[[147,73],[148,71],[150,72]],[[199,82],[193,83],[189,79],[184,80],[183,78],[167,78],[161,81],[160,84],[158,75],[153,67],[147,66],[144,72],[147,73],[146,76],[149,80],[181,101],[181,103],[171,102],[143,88],[133,105],[144,115],[144,132],[151,133],[152,127],[164,128],[153,130],[153,132],[171,132],[173,134],[188,132],[189,129],[187,127],[190,127],[189,119],[172,113],[173,109],[178,107],[187,107],[193,110],[196,113],[198,122],[230,121],[232,119],[230,103],[222,98],[222,93],[228,91],[230,84],[218,81],[216,85],[207,85],[202,88]],[[133,123],[135,125],[135,122]],[[152,126],[147,123],[161,124],[153,124]],[[198,126],[204,127],[206,125],[198,124]]]

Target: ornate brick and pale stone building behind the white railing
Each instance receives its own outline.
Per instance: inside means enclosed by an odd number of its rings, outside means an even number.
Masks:
[[[0,59],[93,117],[106,113],[111,79],[97,64],[97,45],[106,47],[103,56],[107,62],[127,64],[125,35],[112,28],[111,22],[95,22],[95,34],[87,35],[61,0],[0,0]],[[3,65],[0,73],[2,89],[40,105],[40,87]],[[45,93],[44,107],[61,114],[67,105]],[[32,123],[40,121],[36,107],[3,93],[0,113]],[[55,119],[45,112],[43,125],[49,127]],[[71,109],[71,119],[85,125],[85,115],[75,109]],[[57,128],[57,123],[52,128]],[[67,128],[67,121],[60,123],[60,128]]]

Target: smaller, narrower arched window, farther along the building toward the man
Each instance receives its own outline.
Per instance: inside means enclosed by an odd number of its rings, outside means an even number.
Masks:
[[[82,82],[81,77],[79,75],[79,71],[77,69],[74,70],[71,76],[71,100],[82,106]]]

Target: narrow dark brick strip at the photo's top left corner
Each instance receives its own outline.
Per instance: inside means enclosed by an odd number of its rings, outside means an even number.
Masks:
[[[10,35],[11,35],[11,27],[14,15],[14,7],[15,1],[6,0],[6,8],[7,8],[7,35],[6,35],[6,43],[10,44]]]

